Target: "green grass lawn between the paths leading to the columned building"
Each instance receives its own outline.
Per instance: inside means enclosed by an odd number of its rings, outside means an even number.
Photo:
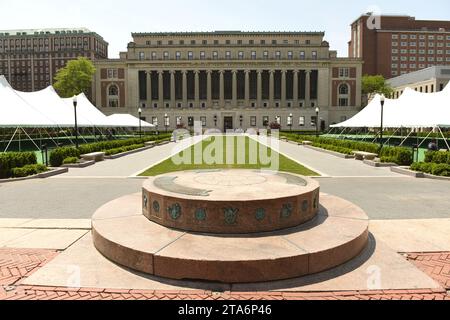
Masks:
[[[142,173],[141,176],[157,176],[174,171],[210,169],[267,169],[291,172],[304,176],[319,176],[316,172],[305,168],[299,163],[286,158],[285,156],[261,145],[253,139],[251,140],[248,137],[232,137],[231,139],[234,139],[234,148],[232,149],[231,147],[228,147],[229,151],[234,150],[232,152],[227,152],[226,139],[223,139],[223,143],[220,143],[220,140],[216,139],[220,138],[206,138],[196,146],[191,146],[190,148],[180,152],[178,154],[178,158],[185,159],[185,161],[181,164],[175,163],[173,158],[171,158],[149,168]],[[227,139],[230,139],[230,137],[227,137]],[[210,164],[211,161],[201,159],[201,161],[197,161],[198,164],[194,164],[194,150],[197,150],[197,155],[199,153],[203,155],[211,155],[218,161]],[[201,152],[199,152],[200,150]],[[234,154],[234,157],[231,156],[232,153]],[[263,156],[260,157],[260,154],[263,154]],[[267,155],[267,157],[264,155]],[[278,165],[276,165],[276,161],[268,161],[269,159],[277,158],[279,159]],[[275,165],[272,165],[274,163]]]

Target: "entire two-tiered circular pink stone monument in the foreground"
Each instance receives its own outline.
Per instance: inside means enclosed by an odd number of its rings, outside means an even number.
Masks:
[[[295,278],[341,265],[368,241],[368,218],[302,176],[174,172],[95,213],[96,248],[131,269],[225,283]]]

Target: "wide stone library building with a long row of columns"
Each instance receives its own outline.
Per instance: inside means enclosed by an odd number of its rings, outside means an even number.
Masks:
[[[316,107],[323,128],[361,108],[362,61],[337,58],[321,32],[134,33],[120,59],[96,68],[102,112],[141,108],[160,130],[313,130]]]

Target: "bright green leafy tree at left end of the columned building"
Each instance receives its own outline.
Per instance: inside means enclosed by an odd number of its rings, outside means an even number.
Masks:
[[[55,76],[54,88],[63,98],[70,98],[91,88],[95,67],[84,57],[72,60]]]

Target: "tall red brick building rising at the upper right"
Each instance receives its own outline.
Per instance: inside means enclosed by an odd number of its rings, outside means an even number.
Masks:
[[[349,57],[364,60],[363,74],[393,78],[450,65],[450,21],[366,14],[351,25]]]

